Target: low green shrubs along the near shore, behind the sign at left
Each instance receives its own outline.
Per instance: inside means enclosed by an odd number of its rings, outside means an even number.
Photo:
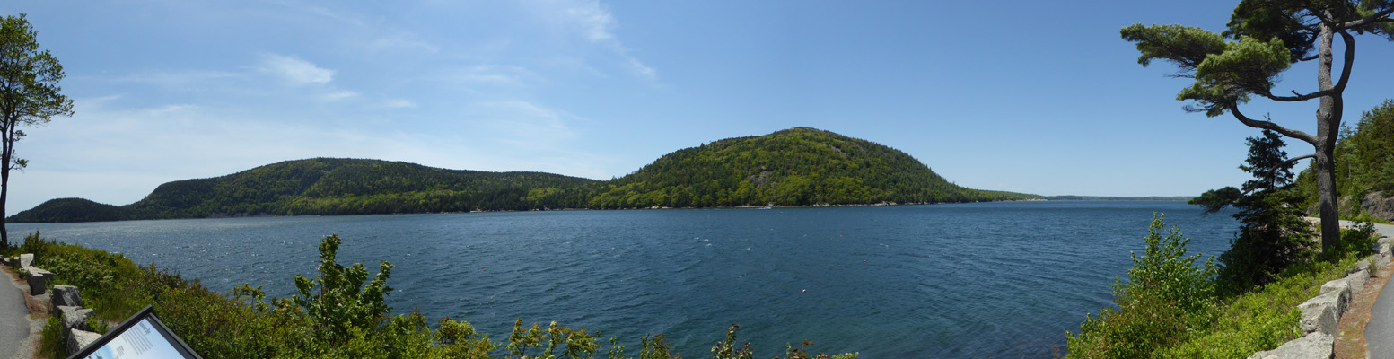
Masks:
[[[106,250],[46,241],[39,232],[3,255],[33,253],[36,267],[56,274],[49,285],[78,287],[86,306],[95,309],[98,323],[92,327],[99,331],[155,306],[170,330],[204,358],[680,358],[662,334],[645,335],[638,348],[626,348],[616,338],[555,321],[524,326],[519,320],[506,337],[491,337],[450,317],[429,320],[420,312],[389,316],[385,299],[392,292],[392,264],[381,263],[369,277],[361,263],[336,262],[339,245],[336,235],[323,238],[319,273],[294,276],[298,294],[291,298],[266,298],[251,285],[215,292],[197,278],[185,280],[155,264],[138,266]],[[750,345],[737,340],[739,331],[732,324],[723,338],[714,341],[711,358],[751,358]],[[61,320],[50,317],[38,356],[64,358],[61,335]],[[810,353],[811,345],[790,345],[782,355],[857,358]]]

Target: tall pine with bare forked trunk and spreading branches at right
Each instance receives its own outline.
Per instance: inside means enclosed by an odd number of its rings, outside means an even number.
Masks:
[[[1394,1],[1327,1],[1327,0],[1243,0],[1227,29],[1214,33],[1197,26],[1133,24],[1121,31],[1124,40],[1136,43],[1138,63],[1164,60],[1177,65],[1178,78],[1189,78],[1178,100],[1190,102],[1186,111],[1217,117],[1225,113],[1239,122],[1273,131],[1310,143],[1320,193],[1323,248],[1340,238],[1340,217],[1335,207],[1334,149],[1341,114],[1342,93],[1351,81],[1355,63],[1355,35],[1370,33],[1394,40]],[[1334,40],[1344,45],[1342,67],[1333,79],[1335,61]],[[1280,75],[1294,63],[1317,61],[1317,88],[1292,95],[1274,93]],[[1271,118],[1252,118],[1239,104],[1255,97],[1276,102],[1319,100],[1317,131],[1308,134],[1278,125]],[[1299,156],[1305,157],[1305,156]]]

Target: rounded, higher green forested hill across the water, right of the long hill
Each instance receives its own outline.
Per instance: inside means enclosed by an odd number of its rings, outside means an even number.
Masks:
[[[669,153],[604,184],[591,207],[942,203],[1037,198],[962,188],[910,154],[813,128]]]

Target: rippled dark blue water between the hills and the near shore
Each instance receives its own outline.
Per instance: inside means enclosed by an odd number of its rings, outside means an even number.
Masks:
[[[637,355],[664,333],[705,358],[726,326],[757,358],[785,342],[861,358],[1037,358],[1111,303],[1154,212],[1218,255],[1238,224],[1181,202],[524,212],[11,224],[125,253],[227,291],[290,295],[321,238],[339,262],[392,262],[395,312],[602,331]],[[1064,348],[1061,348],[1062,351]]]

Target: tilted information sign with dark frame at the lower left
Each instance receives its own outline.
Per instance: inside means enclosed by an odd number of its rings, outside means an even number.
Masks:
[[[146,306],[68,359],[204,359]]]

